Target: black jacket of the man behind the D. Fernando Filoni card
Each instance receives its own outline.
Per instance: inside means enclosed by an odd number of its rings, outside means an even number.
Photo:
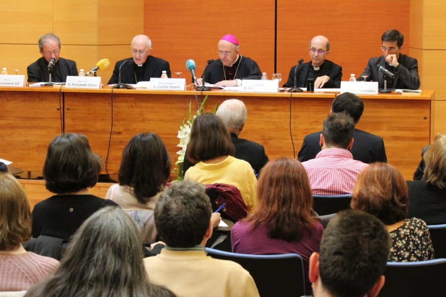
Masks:
[[[117,84],[118,76],[119,76],[119,66],[124,63],[125,60],[128,60],[128,63],[122,66],[121,68],[121,83],[123,84],[136,84],[135,79],[135,62],[133,58],[123,59],[117,61],[114,65],[113,74],[111,75],[109,84]],[[138,67],[138,66],[136,66]],[[161,77],[163,74],[163,70],[166,71],[167,77],[170,78],[170,65],[169,62],[163,60],[161,58],[154,57],[149,55],[146,60],[146,69],[144,73],[144,81],[150,81],[152,77]]]

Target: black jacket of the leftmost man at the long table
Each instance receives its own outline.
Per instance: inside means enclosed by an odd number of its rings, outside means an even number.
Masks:
[[[48,82],[50,81],[50,73],[48,72],[48,62],[44,57],[39,58],[26,69],[28,73],[28,82]],[[66,82],[67,76],[78,76],[76,62],[64,58],[59,58],[56,65],[53,66],[51,81],[55,83]],[[58,80],[57,76],[61,76],[62,80]]]

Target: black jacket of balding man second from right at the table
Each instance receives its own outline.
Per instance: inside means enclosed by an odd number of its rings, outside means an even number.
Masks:
[[[308,70],[310,69],[311,62],[300,64],[297,67],[297,87],[298,88],[306,88],[307,87],[307,76]],[[283,84],[283,87],[292,88],[294,86],[294,68],[296,66],[291,67],[289,70],[288,81]],[[323,88],[340,88],[340,82],[342,79],[342,67],[333,63],[332,61],[325,60],[324,67],[321,70],[321,75],[328,75],[330,80],[325,83]]]

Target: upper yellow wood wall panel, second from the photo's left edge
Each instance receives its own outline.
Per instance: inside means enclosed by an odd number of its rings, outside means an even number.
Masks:
[[[54,1],[54,33],[64,45],[97,45],[97,0]]]

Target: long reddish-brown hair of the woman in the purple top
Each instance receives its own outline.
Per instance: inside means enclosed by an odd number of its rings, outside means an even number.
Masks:
[[[260,172],[258,203],[246,220],[252,228],[267,225],[269,238],[299,241],[303,229],[310,230],[316,222],[311,216],[313,194],[305,168],[295,159],[279,157]]]

